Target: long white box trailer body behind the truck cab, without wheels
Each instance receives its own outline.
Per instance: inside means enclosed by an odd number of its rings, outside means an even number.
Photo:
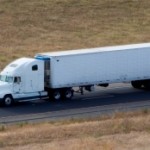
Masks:
[[[51,88],[150,79],[150,43],[37,56],[50,58]]]

